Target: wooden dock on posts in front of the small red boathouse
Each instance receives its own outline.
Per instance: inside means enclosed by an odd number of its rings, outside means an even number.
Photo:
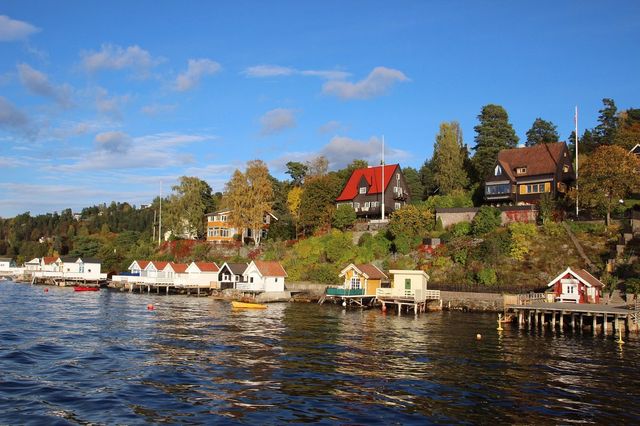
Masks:
[[[530,330],[551,328],[582,331],[588,329],[596,334],[618,333],[622,330],[639,331],[638,312],[624,306],[614,307],[601,304],[569,304],[535,302],[506,306],[506,311],[515,314],[519,327]]]

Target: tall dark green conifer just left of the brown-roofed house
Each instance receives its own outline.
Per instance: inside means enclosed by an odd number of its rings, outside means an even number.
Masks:
[[[515,148],[519,139],[509,123],[507,111],[500,105],[482,107],[478,120],[480,123],[474,127],[476,145],[473,147],[473,165],[480,179],[484,179],[491,173],[500,150]]]

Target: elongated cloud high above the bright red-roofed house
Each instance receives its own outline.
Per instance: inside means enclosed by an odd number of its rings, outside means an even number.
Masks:
[[[409,81],[402,71],[385,67],[376,67],[369,75],[356,83],[348,81],[328,81],[322,86],[322,92],[338,96],[341,99],[370,99],[384,95],[397,82]]]

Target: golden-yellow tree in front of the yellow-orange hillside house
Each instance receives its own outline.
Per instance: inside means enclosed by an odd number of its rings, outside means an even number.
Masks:
[[[249,161],[246,172],[236,170],[225,189],[231,210],[229,221],[237,229],[251,229],[253,242],[259,246],[264,215],[271,211],[273,204],[273,185],[267,165],[262,160]]]

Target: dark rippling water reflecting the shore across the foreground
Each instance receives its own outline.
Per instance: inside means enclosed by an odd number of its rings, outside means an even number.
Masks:
[[[209,298],[3,282],[0,423],[640,421],[637,336],[620,348],[495,328],[494,315],[232,312]]]

